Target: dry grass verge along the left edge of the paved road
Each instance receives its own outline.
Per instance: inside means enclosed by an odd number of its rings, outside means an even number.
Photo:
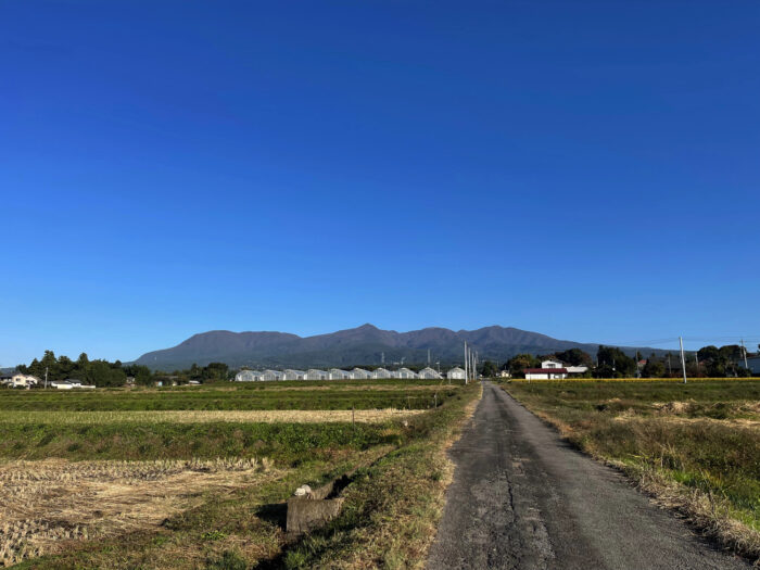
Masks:
[[[407,442],[359,470],[344,492],[342,515],[283,554],[284,568],[418,568],[443,512],[453,465],[445,451],[482,393],[470,384],[457,401],[417,416]]]

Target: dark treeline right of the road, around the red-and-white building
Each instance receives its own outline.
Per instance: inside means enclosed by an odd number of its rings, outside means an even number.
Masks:
[[[759,346],[760,349],[760,346]],[[745,352],[738,344],[704,346],[686,357],[686,376],[689,378],[748,377],[751,371],[744,367]],[[515,378],[524,377],[525,368],[541,368],[542,360],[557,359],[568,366],[586,366],[588,371],[582,376],[590,378],[675,378],[683,376],[680,353],[666,353],[649,357],[636,352],[635,357],[626,355],[615,346],[600,345],[596,359],[591,354],[572,349],[569,351],[535,356],[518,354],[502,367]],[[493,366],[492,363],[485,365]],[[484,365],[484,367],[485,367]],[[492,370],[489,369],[491,372]],[[486,375],[486,376],[495,376]]]

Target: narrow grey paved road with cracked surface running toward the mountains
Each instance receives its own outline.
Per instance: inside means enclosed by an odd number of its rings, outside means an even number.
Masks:
[[[428,568],[748,569],[485,382]]]

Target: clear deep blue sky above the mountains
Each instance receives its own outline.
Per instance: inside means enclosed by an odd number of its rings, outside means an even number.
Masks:
[[[760,340],[759,26],[755,1],[2,2],[0,365],[367,321]]]

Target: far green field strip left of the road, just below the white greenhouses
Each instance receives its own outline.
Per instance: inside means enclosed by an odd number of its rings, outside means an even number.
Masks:
[[[380,382],[380,383],[375,383]],[[94,391],[0,390],[0,410],[138,411],[274,409],[429,409],[456,385],[394,381],[251,382]]]

